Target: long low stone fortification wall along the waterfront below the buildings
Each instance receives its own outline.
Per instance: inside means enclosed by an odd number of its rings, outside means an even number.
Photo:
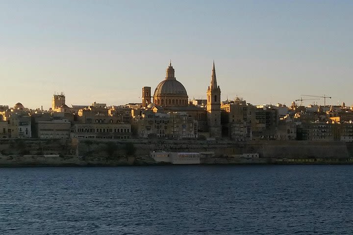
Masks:
[[[157,164],[150,158],[151,151],[213,152],[201,158],[203,164],[353,163],[353,144],[340,141],[2,139],[0,166]],[[258,153],[259,158],[234,157],[243,153]]]

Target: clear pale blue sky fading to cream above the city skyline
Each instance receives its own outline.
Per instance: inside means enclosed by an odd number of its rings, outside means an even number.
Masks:
[[[352,0],[3,0],[0,22],[0,105],[141,102],[169,60],[190,99],[214,60],[222,100],[353,105]]]

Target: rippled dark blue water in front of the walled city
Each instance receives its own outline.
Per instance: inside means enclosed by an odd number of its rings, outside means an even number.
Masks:
[[[0,234],[353,234],[353,165],[0,168]]]

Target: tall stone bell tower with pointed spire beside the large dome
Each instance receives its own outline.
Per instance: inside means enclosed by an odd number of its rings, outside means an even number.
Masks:
[[[207,89],[207,124],[211,138],[222,137],[221,89],[219,86],[217,86],[214,61],[211,75],[211,83]]]

